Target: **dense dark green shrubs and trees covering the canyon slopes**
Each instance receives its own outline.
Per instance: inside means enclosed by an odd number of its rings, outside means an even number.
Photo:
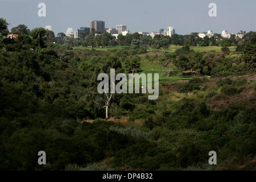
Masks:
[[[129,35],[138,37],[126,49],[79,52],[53,44],[42,28],[13,31],[23,34],[8,48],[0,42],[1,170],[255,169],[255,34],[243,52],[195,52],[187,42],[155,56],[139,52],[147,42],[139,34]],[[100,36],[108,46],[109,35]],[[156,101],[114,94],[104,119],[98,74],[140,72],[143,61],[163,66],[167,77],[192,69],[213,78],[161,81]],[[217,167],[208,164],[212,150]],[[46,166],[38,165],[38,151],[46,151]]]

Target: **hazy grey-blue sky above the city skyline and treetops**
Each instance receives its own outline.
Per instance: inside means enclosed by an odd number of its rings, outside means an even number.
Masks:
[[[38,4],[46,3],[46,17]],[[217,17],[209,17],[209,3],[216,3]],[[51,25],[55,34],[68,27],[89,27],[90,20],[104,20],[106,28],[126,24],[131,32],[159,31],[174,26],[177,34],[213,30],[256,31],[255,0],[0,0],[0,18],[10,27],[30,29]]]

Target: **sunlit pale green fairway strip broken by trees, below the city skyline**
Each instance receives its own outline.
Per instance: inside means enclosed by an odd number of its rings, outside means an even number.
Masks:
[[[108,51],[109,49],[123,49],[129,46],[112,46],[112,47],[93,47],[93,49],[96,49],[98,51]],[[181,48],[182,46],[174,46],[174,45],[170,45],[169,48],[167,49],[147,49],[148,52],[150,51],[158,51],[158,52],[174,52],[177,49]],[[92,49],[90,47],[73,47],[73,49]],[[221,47],[220,46],[208,46],[208,47],[202,47],[202,46],[191,46],[190,49],[194,50],[194,51],[221,51]],[[229,47],[230,51],[236,51],[236,46],[230,46]]]

